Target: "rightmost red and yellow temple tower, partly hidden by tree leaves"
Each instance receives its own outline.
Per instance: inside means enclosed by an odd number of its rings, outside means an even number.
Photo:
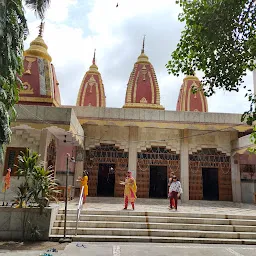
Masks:
[[[177,111],[208,112],[207,99],[203,91],[193,94],[192,88],[199,88],[200,81],[196,76],[187,76],[183,79],[177,102]]]

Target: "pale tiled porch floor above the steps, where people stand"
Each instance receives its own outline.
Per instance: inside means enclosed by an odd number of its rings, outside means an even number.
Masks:
[[[64,208],[63,203],[59,203]],[[78,199],[68,203],[68,209],[76,209]],[[135,203],[136,211],[168,212],[168,199],[139,198]],[[130,207],[130,206],[129,206]],[[123,198],[116,197],[88,197],[83,207],[84,210],[122,210]],[[213,214],[242,214],[256,216],[256,205],[224,201],[189,201],[178,203],[179,212],[213,213]]]

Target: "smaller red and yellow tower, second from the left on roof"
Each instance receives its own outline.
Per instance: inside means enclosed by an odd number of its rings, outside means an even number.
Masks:
[[[85,73],[77,97],[77,106],[106,107],[106,96],[101,74],[95,64],[95,51],[92,65]]]

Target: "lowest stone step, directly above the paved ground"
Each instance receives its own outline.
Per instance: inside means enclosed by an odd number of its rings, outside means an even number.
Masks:
[[[63,235],[51,235],[51,240],[58,241]],[[99,236],[81,235],[68,236],[75,242],[152,242],[152,243],[197,243],[197,244],[246,244],[256,245],[252,239],[216,239],[187,237],[149,237],[149,236]]]

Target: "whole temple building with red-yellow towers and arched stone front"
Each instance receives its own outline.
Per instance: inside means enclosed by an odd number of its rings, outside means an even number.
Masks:
[[[106,107],[103,79],[92,65],[81,81],[76,106],[63,106],[52,59],[42,33],[24,52],[17,120],[1,166],[12,168],[8,195],[19,184],[15,164],[26,147],[37,151],[60,185],[69,169],[69,185],[89,171],[89,196],[123,196],[127,170],[137,180],[138,197],[166,198],[171,173],[181,180],[182,199],[253,202],[255,156],[249,154],[252,127],[241,115],[209,113],[196,76],[184,77],[176,111],[165,110],[153,65],[145,47],[134,64],[124,106]],[[192,88],[199,88],[196,93]],[[75,163],[66,165],[67,153]],[[1,194],[2,196],[2,194]]]

